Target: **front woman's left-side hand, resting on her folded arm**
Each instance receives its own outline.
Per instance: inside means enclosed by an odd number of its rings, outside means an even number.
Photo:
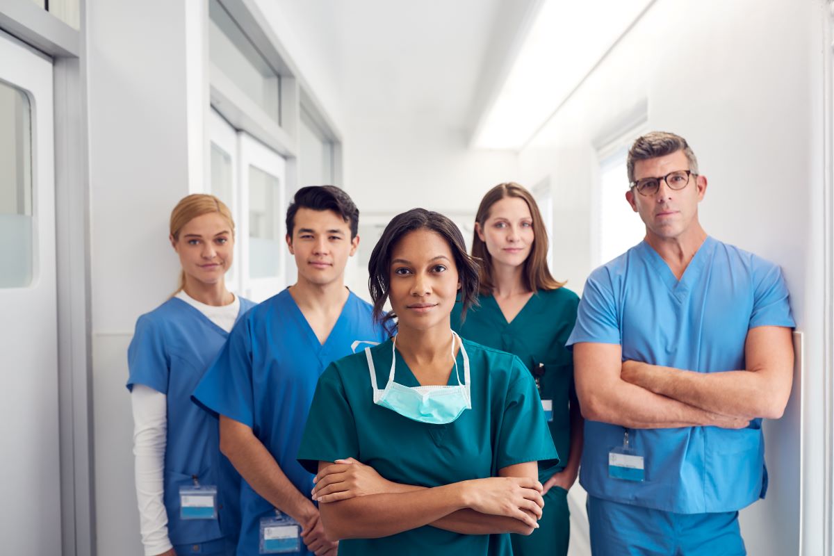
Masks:
[[[374,468],[354,458],[337,459],[319,470],[313,479],[313,499],[319,503],[339,502],[365,496],[397,492],[395,483],[382,478]]]

